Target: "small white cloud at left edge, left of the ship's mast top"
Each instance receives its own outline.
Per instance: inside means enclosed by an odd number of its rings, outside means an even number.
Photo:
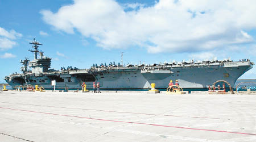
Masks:
[[[0,50],[13,48],[13,46],[17,44],[13,40],[18,37],[22,37],[22,34],[14,30],[6,31],[4,28],[0,27]]]

